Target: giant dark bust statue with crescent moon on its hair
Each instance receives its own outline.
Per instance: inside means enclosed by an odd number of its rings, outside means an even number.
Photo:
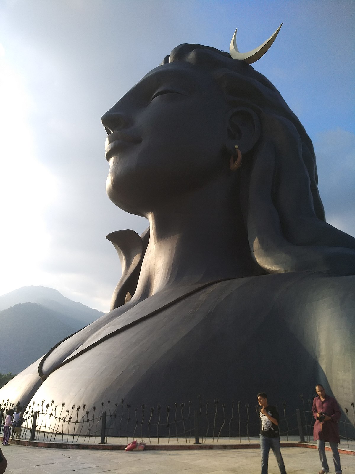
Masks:
[[[110,312],[0,400],[299,401],[315,383],[355,400],[355,239],[325,222],[311,140],[249,65],[275,35],[247,54],[235,35],[230,54],[177,46],[104,114],[107,194],[149,229],[107,237]]]

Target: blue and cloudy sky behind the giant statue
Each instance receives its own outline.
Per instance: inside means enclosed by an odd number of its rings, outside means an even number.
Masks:
[[[147,227],[109,201],[101,116],[181,43],[246,52],[300,118],[327,221],[355,236],[352,0],[0,0],[0,295],[42,285],[108,311],[105,236]]]

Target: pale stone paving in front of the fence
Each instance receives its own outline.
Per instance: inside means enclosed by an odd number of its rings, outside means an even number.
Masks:
[[[8,459],[6,474],[258,474],[259,449],[181,451],[98,451],[10,445],[2,447]],[[287,474],[315,474],[320,469],[317,450],[284,447]],[[331,453],[327,453],[334,473]],[[343,474],[355,473],[355,456],[340,455]],[[269,474],[279,474],[269,456]]]

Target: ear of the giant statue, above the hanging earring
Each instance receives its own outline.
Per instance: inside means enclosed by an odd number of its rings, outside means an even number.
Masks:
[[[257,114],[247,107],[234,107],[227,115],[229,150],[238,145],[242,154],[250,151],[260,137],[260,121]]]

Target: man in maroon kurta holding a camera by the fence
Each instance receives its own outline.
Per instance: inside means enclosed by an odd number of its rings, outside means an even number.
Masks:
[[[320,464],[322,470],[318,474],[329,472],[327,457],[325,455],[325,442],[328,441],[333,453],[335,472],[341,474],[340,456],[338,453],[340,418],[339,405],[335,398],[326,395],[323,385],[316,385],[318,397],[313,400],[312,412],[316,419],[313,427],[313,439],[317,441]]]

